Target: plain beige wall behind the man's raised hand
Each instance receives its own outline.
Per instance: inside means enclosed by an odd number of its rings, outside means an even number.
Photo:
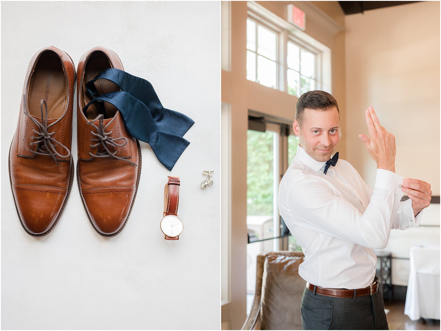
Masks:
[[[375,163],[358,134],[372,105],[396,137],[396,173],[440,195],[440,3],[423,1],[348,15],[347,160],[370,185]]]

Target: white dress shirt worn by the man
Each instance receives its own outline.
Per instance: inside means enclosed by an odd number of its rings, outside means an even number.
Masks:
[[[279,210],[302,246],[299,275],[328,288],[359,289],[375,277],[373,249],[385,248],[391,229],[419,225],[412,201],[400,202],[403,177],[377,169],[372,190],[347,161],[339,159],[324,174],[300,146],[279,187]]]

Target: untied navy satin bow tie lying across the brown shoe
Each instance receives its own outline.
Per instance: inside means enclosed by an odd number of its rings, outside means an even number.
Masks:
[[[114,82],[121,91],[100,95],[93,84],[98,79]],[[194,124],[191,118],[164,108],[150,82],[119,69],[101,71],[86,83],[86,89],[93,99],[83,108],[84,114],[95,101],[113,104],[123,116],[129,133],[135,139],[148,143],[159,162],[172,170],[190,144],[182,136]]]

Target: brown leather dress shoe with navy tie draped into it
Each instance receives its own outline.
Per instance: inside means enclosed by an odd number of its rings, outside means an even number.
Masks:
[[[118,109],[101,101],[82,111],[93,99],[86,82],[111,67],[124,70],[110,49],[92,48],[78,63],[77,81],[78,188],[90,223],[104,237],[123,230],[141,174],[139,143],[128,133]],[[98,79],[95,86],[99,94],[119,90],[106,79]]]

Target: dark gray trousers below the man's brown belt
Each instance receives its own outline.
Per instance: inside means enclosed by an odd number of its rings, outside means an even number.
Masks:
[[[302,297],[303,330],[389,330],[383,296],[333,298],[305,288]]]

